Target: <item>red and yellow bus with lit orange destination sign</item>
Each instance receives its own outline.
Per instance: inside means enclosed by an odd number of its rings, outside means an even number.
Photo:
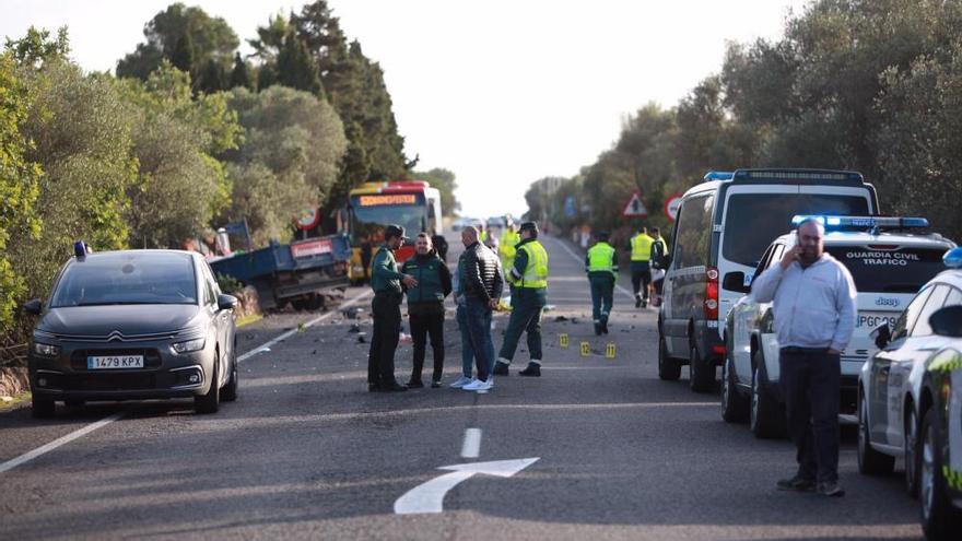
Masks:
[[[441,192],[423,180],[365,183],[348,197],[348,235],[353,254],[348,266],[352,283],[369,278],[371,261],[384,242],[384,228],[400,225],[411,237],[398,251],[398,263],[414,254],[418,233],[442,235]]]

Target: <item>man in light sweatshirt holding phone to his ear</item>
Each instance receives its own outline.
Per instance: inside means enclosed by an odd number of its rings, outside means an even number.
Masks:
[[[752,283],[752,297],[773,302],[781,348],[782,393],[798,472],[783,491],[842,496],[838,484],[838,400],[842,352],[855,329],[852,274],[824,252],[816,219],[798,225],[797,244]]]

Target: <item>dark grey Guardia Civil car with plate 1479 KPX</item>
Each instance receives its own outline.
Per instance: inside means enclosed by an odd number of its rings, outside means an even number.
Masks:
[[[176,250],[80,252],[60,270],[30,344],[33,413],[57,401],[237,397],[234,307],[207,261]]]

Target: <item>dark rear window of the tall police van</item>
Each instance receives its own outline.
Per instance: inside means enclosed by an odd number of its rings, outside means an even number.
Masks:
[[[791,230],[796,214],[868,215],[868,199],[829,193],[734,193],[725,212],[722,255],[754,267],[765,247]]]

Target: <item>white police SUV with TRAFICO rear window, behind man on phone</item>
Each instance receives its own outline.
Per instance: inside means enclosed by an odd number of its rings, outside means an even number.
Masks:
[[[793,225],[811,216],[795,216]],[[954,244],[938,234],[910,233],[928,227],[925,219],[880,216],[816,216],[825,226],[825,252],[852,273],[858,291],[855,332],[842,352],[841,412],[855,422],[858,375],[875,353],[870,336],[881,324],[894,324],[918,289],[945,270],[942,255]],[[753,275],[781,264],[796,244],[796,233],[776,238],[752,275],[731,272],[725,287],[748,293]],[[729,311],[725,328],[726,355],[722,369],[722,416],[746,419],[758,437],[785,433],[783,398],[778,386],[778,339],[771,303],[741,297]]]

